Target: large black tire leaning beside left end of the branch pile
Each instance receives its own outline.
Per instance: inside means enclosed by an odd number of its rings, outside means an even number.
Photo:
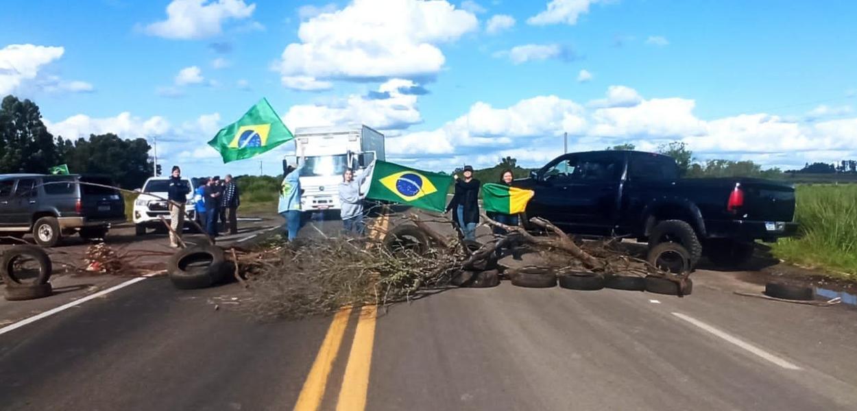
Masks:
[[[223,282],[229,266],[222,248],[205,244],[173,254],[167,275],[177,289],[202,289]]]

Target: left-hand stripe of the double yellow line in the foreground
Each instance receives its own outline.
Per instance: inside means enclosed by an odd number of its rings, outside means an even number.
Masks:
[[[319,354],[315,356],[313,367],[310,368],[307,380],[303,383],[301,395],[297,397],[295,411],[315,411],[321,405],[321,399],[324,398],[324,390],[327,386],[327,377],[330,375],[333,361],[336,360],[336,355],[339,353],[339,346],[342,344],[342,337],[345,335],[345,326],[348,325],[350,314],[351,307],[345,307],[333,316],[333,322],[327,329],[327,335],[324,337],[324,342],[321,343],[321,348],[319,348]]]

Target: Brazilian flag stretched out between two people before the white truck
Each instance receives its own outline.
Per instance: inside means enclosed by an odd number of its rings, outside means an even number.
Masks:
[[[375,171],[366,198],[443,212],[446,210],[446,193],[451,183],[452,178],[446,174],[429,173],[378,160],[375,161]]]

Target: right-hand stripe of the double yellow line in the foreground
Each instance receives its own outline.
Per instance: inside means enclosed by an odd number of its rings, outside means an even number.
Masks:
[[[375,306],[363,307],[348,365],[345,366],[345,378],[339,390],[337,411],[363,411],[366,408],[366,395],[369,391],[369,369],[372,366],[372,346],[375,343]]]

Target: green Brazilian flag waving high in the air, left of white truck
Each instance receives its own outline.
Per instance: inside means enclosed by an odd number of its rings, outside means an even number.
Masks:
[[[294,139],[267,99],[262,98],[244,115],[220,131],[208,146],[220,152],[224,163],[258,156]]]

